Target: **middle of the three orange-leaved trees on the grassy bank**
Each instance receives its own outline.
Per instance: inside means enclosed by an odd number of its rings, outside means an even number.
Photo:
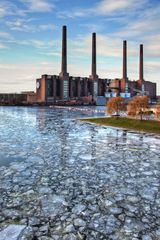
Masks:
[[[130,116],[140,116],[143,120],[143,115],[148,112],[149,108],[149,98],[148,96],[136,96],[128,104],[128,115]]]

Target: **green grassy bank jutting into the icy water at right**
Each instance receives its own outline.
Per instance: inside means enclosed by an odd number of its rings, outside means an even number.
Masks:
[[[112,127],[126,128],[129,130],[143,131],[147,133],[157,133],[160,134],[160,122],[151,120],[137,120],[129,118],[91,118],[82,119],[82,121],[97,123],[100,125],[107,125]]]

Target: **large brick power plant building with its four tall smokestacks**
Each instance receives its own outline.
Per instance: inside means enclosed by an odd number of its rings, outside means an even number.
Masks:
[[[96,70],[96,33],[92,34],[92,64],[89,77],[73,77],[67,72],[67,27],[62,28],[62,63],[57,75],[42,75],[36,80],[37,102],[54,104],[89,98],[92,103],[101,96],[110,98],[122,96],[131,98],[137,94],[156,99],[156,83],[143,77],[143,45],[139,53],[139,79],[130,81],[127,77],[127,41],[123,41],[123,74],[120,79],[101,79]]]

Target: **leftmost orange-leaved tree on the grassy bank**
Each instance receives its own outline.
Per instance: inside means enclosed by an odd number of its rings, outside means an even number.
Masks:
[[[108,103],[107,103],[107,113],[112,115],[116,114],[118,117],[120,114],[120,111],[125,110],[125,102],[124,98],[122,97],[113,97],[110,98]]]

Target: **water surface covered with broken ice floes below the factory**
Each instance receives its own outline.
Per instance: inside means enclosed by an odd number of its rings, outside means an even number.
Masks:
[[[0,107],[0,239],[160,239],[160,137],[99,115]]]

